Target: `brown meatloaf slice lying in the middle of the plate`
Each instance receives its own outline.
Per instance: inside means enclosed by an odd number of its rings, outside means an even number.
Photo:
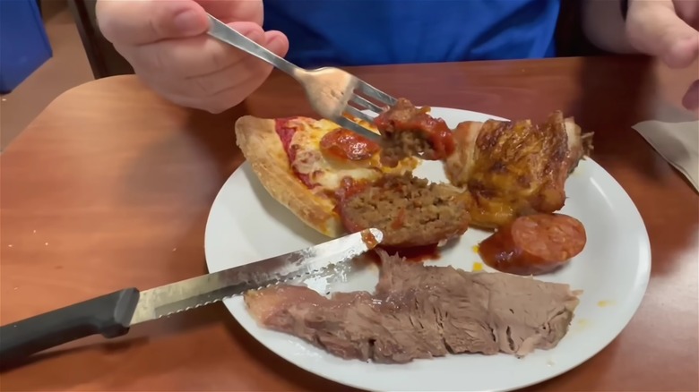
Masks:
[[[469,225],[467,201],[449,184],[387,175],[341,200],[340,213],[350,232],[375,227],[384,232],[384,245],[421,246],[463,234]]]

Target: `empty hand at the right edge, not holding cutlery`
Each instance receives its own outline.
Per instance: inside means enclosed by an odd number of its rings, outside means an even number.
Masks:
[[[630,0],[626,35],[637,50],[656,55],[672,68],[695,64],[699,57],[699,0]],[[687,90],[683,105],[699,108],[699,81]]]

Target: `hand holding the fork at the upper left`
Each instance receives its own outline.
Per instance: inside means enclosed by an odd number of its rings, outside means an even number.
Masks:
[[[262,0],[98,0],[99,29],[164,98],[220,113],[260,87],[272,66],[206,35],[206,12],[277,55],[289,40],[263,31]]]

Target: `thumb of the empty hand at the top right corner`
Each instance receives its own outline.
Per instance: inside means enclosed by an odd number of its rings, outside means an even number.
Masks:
[[[636,49],[670,67],[686,67],[699,55],[699,31],[677,16],[671,0],[631,2],[626,33]]]

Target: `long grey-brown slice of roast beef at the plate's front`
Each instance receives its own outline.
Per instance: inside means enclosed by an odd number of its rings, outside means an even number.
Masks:
[[[405,363],[446,354],[524,356],[565,337],[578,305],[568,285],[503,273],[427,267],[381,256],[375,294],[326,298],[301,286],[248,292],[264,328],[300,337],[344,359]]]

